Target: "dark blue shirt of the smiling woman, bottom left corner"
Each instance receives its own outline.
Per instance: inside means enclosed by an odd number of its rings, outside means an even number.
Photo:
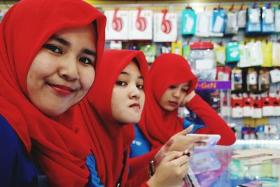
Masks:
[[[0,115],[0,186],[25,187],[44,181],[34,162],[31,161],[25,146],[8,121]],[[35,185],[36,186],[36,185]]]

